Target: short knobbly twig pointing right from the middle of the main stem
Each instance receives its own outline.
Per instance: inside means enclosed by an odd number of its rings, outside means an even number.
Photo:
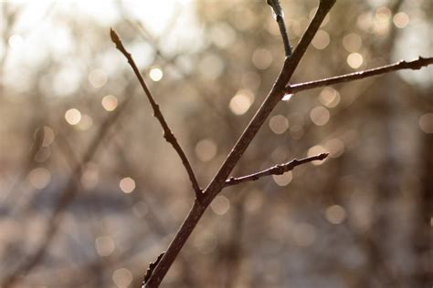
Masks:
[[[293,159],[290,162],[279,164],[270,167],[267,170],[262,170],[254,174],[250,174],[247,176],[242,177],[230,177],[228,180],[226,180],[226,186],[233,186],[238,185],[243,182],[247,181],[255,181],[259,180],[262,177],[269,176],[269,175],[281,175],[284,174],[290,170],[293,170],[295,167],[300,166],[302,164],[310,163],[314,160],[323,160],[328,157],[329,153],[322,153],[318,154],[316,156],[304,158],[304,159]]]

